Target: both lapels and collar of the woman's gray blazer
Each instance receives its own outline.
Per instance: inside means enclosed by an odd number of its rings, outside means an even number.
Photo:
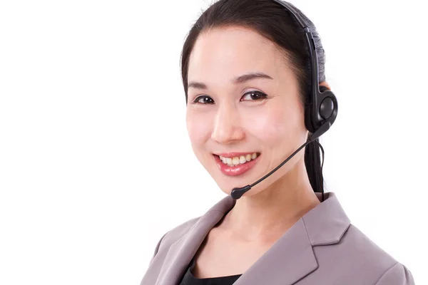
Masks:
[[[321,199],[321,193],[315,194]],[[317,269],[312,247],[339,242],[350,226],[350,219],[335,193],[324,195],[324,202],[293,224],[234,284],[290,285]],[[221,199],[170,246],[156,285],[178,285],[210,229],[235,206],[235,202],[230,196]]]

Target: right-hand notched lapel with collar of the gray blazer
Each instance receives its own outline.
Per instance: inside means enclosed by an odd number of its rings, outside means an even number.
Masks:
[[[321,200],[321,193],[315,193]],[[350,226],[350,219],[335,193],[301,217],[234,285],[291,285],[318,268],[314,246],[335,244]]]

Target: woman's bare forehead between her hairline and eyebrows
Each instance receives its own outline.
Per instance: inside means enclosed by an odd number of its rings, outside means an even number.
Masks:
[[[190,53],[188,81],[225,83],[248,71],[271,76],[284,70],[283,56],[274,43],[243,27],[214,28],[201,33]]]

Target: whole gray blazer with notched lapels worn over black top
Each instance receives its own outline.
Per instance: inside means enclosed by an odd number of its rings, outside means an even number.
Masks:
[[[316,193],[321,199],[321,193]],[[411,285],[403,264],[350,223],[334,192],[301,217],[235,285]],[[163,235],[141,285],[178,285],[210,229],[233,208],[226,196]]]

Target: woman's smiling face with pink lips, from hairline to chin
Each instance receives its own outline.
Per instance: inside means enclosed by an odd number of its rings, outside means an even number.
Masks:
[[[245,76],[250,74],[259,76]],[[259,180],[305,143],[297,78],[275,45],[258,33],[228,27],[201,34],[190,55],[188,83],[193,152],[226,194]],[[304,150],[243,197],[283,180]],[[253,161],[254,152],[260,155]],[[217,156],[222,153],[238,159],[223,163]]]

